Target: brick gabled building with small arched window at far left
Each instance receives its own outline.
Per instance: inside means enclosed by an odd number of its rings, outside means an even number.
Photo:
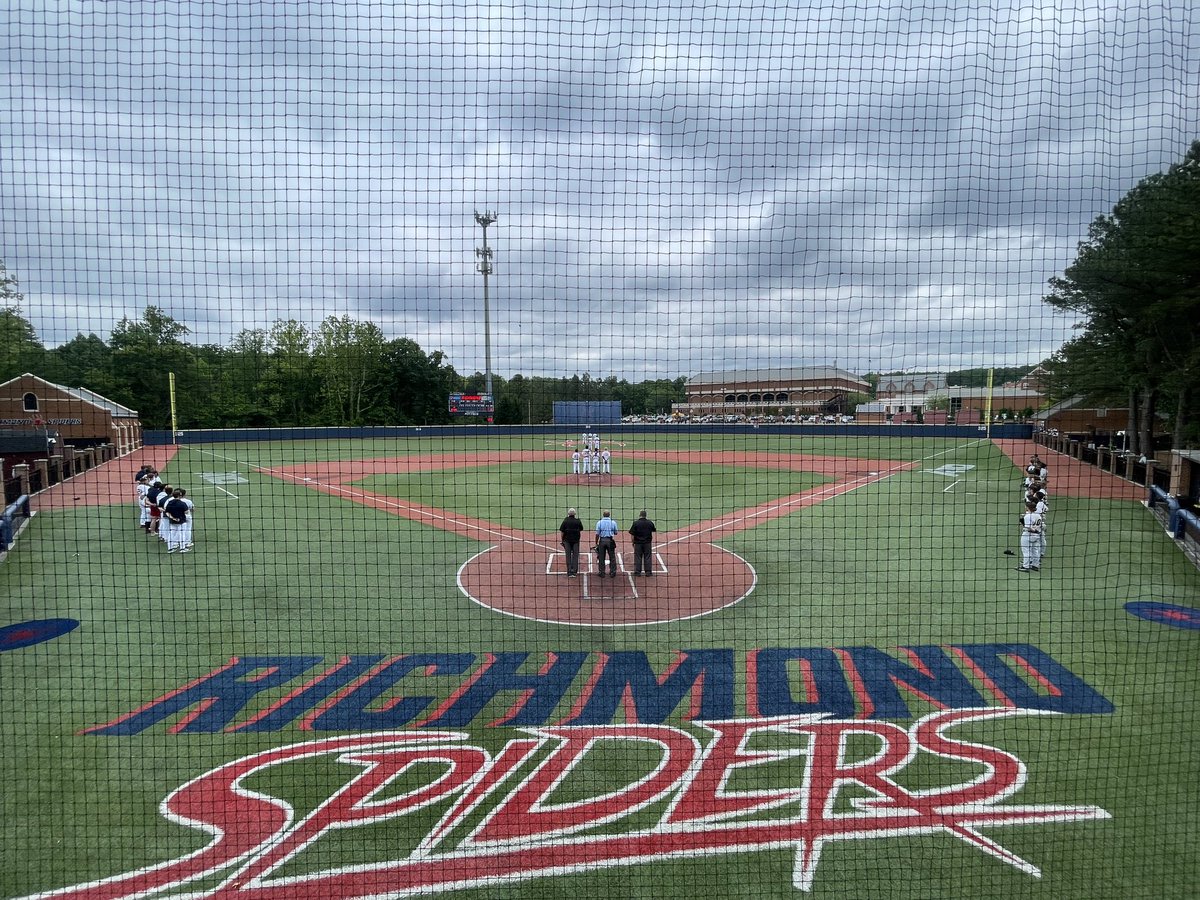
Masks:
[[[62,443],[77,448],[112,444],[118,456],[142,446],[136,409],[28,372],[0,384],[0,428],[58,432]]]

